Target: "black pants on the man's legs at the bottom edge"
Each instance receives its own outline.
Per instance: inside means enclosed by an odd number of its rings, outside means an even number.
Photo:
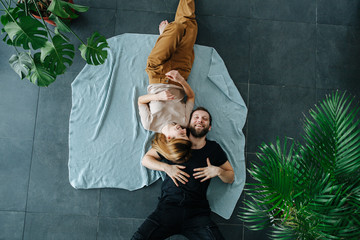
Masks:
[[[160,203],[132,240],[161,240],[181,234],[190,240],[224,240],[210,210]]]

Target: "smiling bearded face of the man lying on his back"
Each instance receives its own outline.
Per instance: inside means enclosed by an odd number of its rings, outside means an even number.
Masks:
[[[203,110],[195,111],[190,119],[189,129],[194,137],[205,136],[211,129],[209,114]]]

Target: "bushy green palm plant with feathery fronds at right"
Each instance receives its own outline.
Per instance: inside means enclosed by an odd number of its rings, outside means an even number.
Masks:
[[[328,96],[305,117],[302,143],[263,144],[249,173],[245,212],[274,239],[360,239],[359,105]]]

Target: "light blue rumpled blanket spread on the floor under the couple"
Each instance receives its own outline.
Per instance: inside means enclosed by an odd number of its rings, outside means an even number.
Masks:
[[[141,165],[153,134],[144,130],[137,98],[146,94],[146,59],[156,35],[123,34],[108,39],[111,49],[103,65],[86,65],[72,83],[69,130],[69,180],[77,189],[123,188],[152,184],[161,173]],[[213,124],[208,138],[225,150],[235,170],[235,182],[211,180],[212,211],[230,218],[245,184],[245,124],[247,108],[224,62],[210,47],[195,45],[188,79],[195,106],[209,109]]]

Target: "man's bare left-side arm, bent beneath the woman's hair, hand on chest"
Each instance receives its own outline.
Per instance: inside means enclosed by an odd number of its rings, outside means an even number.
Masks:
[[[173,180],[177,187],[179,186],[177,181],[181,182],[182,184],[186,184],[186,182],[188,181],[187,178],[190,177],[189,174],[181,170],[184,169],[185,166],[170,165],[161,162],[159,154],[153,148],[151,148],[145,154],[145,156],[141,160],[141,164],[146,168],[165,172]]]

